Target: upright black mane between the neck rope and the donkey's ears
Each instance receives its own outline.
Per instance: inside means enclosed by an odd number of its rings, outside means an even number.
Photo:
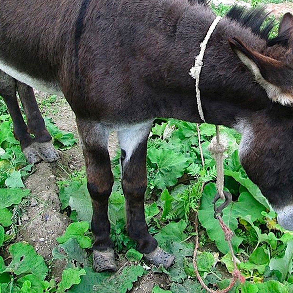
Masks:
[[[286,46],[289,40],[289,31],[285,31],[277,37],[270,38],[270,32],[275,26],[275,23],[273,20],[266,23],[269,14],[270,12],[266,12],[264,7],[246,8],[234,5],[226,16],[246,28],[250,28],[254,34],[264,39],[268,46],[275,44]]]

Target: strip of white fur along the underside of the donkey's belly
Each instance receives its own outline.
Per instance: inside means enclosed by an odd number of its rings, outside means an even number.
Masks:
[[[28,74],[18,71],[16,68],[10,67],[5,64],[2,60],[0,60],[0,69],[12,76],[13,78],[33,87],[40,91],[45,91],[48,93],[53,93],[58,96],[63,96],[62,91],[60,90],[58,84],[54,84],[51,82],[46,82],[43,80],[35,79]]]

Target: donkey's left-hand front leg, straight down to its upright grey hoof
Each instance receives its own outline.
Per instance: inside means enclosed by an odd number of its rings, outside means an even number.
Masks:
[[[97,272],[117,270],[113,243],[110,239],[108,199],[113,186],[110,157],[108,153],[109,132],[99,123],[76,119],[82,140],[88,191],[93,205],[91,228],[95,236],[93,267]]]

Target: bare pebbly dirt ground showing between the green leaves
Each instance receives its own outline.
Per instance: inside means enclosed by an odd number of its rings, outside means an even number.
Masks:
[[[227,0],[228,1],[228,0]],[[229,0],[230,4],[231,0]],[[293,3],[268,4],[268,11],[280,16],[287,11],[293,13]],[[39,101],[47,99],[48,95],[36,91]],[[41,104],[44,104],[40,102]],[[69,104],[62,98],[57,98],[53,105],[44,104],[42,112],[47,113],[61,130],[73,132],[78,137],[75,117]],[[62,113],[62,115],[60,115]],[[117,135],[111,133],[109,152],[112,158],[118,148]],[[59,152],[61,159],[55,163],[39,163],[35,172],[25,181],[27,188],[32,190],[32,198],[25,207],[21,222],[22,228],[18,240],[25,240],[35,247],[48,262],[52,258],[52,249],[57,246],[56,237],[63,234],[70,219],[60,213],[58,187],[56,182],[67,178],[69,173],[84,168],[84,159],[80,143],[66,151]],[[52,274],[59,280],[64,268],[62,263],[52,263]],[[134,284],[131,292],[148,293],[154,285],[166,289],[168,277],[164,274],[149,273]]]

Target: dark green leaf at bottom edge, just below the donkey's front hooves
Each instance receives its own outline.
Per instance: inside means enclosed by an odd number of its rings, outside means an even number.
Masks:
[[[79,285],[74,285],[67,292],[84,293],[84,292],[119,292],[126,293],[141,277],[145,270],[141,265],[131,265],[125,267],[120,274],[110,272],[95,273],[91,268],[85,267],[86,275],[81,276]]]

